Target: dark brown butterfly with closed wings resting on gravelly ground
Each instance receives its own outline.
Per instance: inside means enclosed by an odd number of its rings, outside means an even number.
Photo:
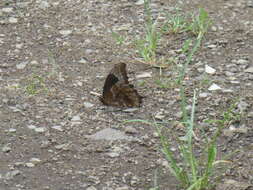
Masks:
[[[142,98],[128,82],[126,64],[115,64],[106,77],[100,101],[105,105],[116,107],[139,107]]]

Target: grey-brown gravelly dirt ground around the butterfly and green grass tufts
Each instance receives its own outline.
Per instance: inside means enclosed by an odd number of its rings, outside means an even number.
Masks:
[[[185,13],[203,7],[213,22],[185,81],[189,105],[193,90],[199,92],[199,131],[211,134],[214,126],[204,120],[221,118],[234,100],[243,113],[219,139],[219,156],[239,152],[217,189],[253,189],[253,2],[151,3],[155,18],[175,6]],[[1,190],[147,190],[156,169],[161,190],[177,188],[155,127],[123,123],[156,117],[182,133],[173,124],[180,120],[178,87],[161,88],[159,69],[141,63],[132,43],[144,35],[143,7],[141,0],[0,1]],[[111,31],[125,42],[118,45]],[[187,35],[164,35],[158,56],[177,57]],[[146,97],[137,110],[105,107],[94,95],[120,61]],[[206,64],[216,72],[205,74]],[[143,73],[151,77],[139,78]],[[175,73],[163,71],[171,81]],[[214,83],[221,89],[208,90]],[[232,182],[234,188],[222,186]]]

